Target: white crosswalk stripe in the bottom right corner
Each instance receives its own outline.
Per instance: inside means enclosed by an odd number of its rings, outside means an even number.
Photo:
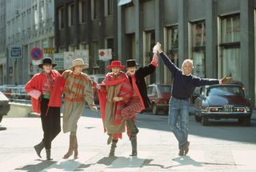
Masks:
[[[232,153],[238,170],[256,170],[256,150],[233,150]]]

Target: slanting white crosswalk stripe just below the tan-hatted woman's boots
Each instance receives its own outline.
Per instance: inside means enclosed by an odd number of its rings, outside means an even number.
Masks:
[[[79,166],[81,166],[84,162],[86,162],[90,158],[94,157],[96,154],[97,152],[86,152],[86,156],[79,157],[78,159],[62,159],[52,164],[51,166],[48,166],[46,169],[42,170],[41,172],[76,170]]]

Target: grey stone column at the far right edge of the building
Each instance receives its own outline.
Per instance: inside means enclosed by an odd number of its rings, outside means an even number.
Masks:
[[[241,78],[246,95],[255,102],[254,1],[240,1]]]

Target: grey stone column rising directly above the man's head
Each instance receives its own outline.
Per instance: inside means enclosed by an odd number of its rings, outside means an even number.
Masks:
[[[178,66],[182,67],[184,59],[189,58],[188,54],[188,0],[178,1]]]

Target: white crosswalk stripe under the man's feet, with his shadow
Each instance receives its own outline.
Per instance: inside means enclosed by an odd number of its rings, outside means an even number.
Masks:
[[[172,170],[205,170],[205,151],[190,150],[190,153],[186,156],[173,158]],[[178,155],[177,155],[178,156]]]

